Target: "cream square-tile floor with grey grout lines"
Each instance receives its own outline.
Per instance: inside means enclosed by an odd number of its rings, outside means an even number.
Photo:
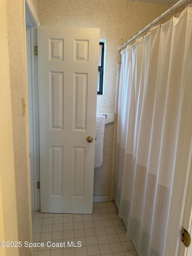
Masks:
[[[92,214],[32,212],[34,256],[137,256],[113,202],[93,203]],[[64,247],[49,247],[46,243]],[[67,242],[81,247],[67,247]],[[68,245],[69,245],[68,244]]]

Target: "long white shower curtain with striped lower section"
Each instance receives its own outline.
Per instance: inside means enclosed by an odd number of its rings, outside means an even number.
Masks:
[[[186,90],[192,8],[121,52],[114,201],[144,255],[163,256]]]

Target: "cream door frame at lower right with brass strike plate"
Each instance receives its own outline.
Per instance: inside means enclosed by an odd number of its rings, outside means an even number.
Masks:
[[[187,248],[181,241],[182,226],[188,230],[192,206],[192,99],[186,87],[181,111],[180,131],[176,165],[172,185],[172,196],[165,255],[186,256]],[[187,125],[186,125],[187,124]],[[192,234],[191,234],[192,235]]]

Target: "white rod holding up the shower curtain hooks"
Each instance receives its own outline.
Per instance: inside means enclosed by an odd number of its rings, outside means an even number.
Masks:
[[[137,33],[134,37],[132,37],[130,40],[128,40],[127,42],[125,42],[125,44],[122,44],[122,46],[120,46],[118,48],[118,50],[121,50],[123,47],[125,47],[127,44],[129,44],[131,41],[133,41],[135,38],[137,38],[139,35],[143,34],[146,30],[150,29],[152,26],[154,26],[156,23],[158,23],[160,20],[164,19],[168,14],[172,13],[174,10],[176,10],[177,8],[179,8],[181,5],[183,4],[187,5],[187,0],[180,0],[179,2],[177,2],[175,5],[171,5],[170,9],[167,10],[166,12],[164,12],[163,14],[160,14],[159,17],[156,20],[152,20],[152,22],[146,26],[145,28],[143,28],[139,33]],[[173,15],[173,13],[172,13]]]

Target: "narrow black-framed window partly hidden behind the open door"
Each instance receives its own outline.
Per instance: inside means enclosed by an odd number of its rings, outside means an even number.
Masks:
[[[98,86],[97,94],[103,95],[104,80],[104,42],[99,43],[99,65],[98,65]]]

